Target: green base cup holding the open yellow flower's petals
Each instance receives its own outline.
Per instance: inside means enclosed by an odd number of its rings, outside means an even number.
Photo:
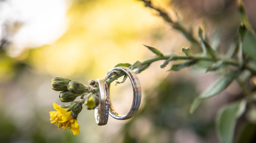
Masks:
[[[72,101],[70,104],[65,106],[68,108],[67,111],[71,111],[72,119],[76,119],[78,114],[83,109],[83,102],[81,101]]]

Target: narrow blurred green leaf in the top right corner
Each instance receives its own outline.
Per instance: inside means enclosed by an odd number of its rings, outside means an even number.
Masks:
[[[249,22],[249,19],[245,13],[244,6],[242,0],[238,0],[238,10],[241,18],[241,22],[243,25],[255,36],[255,31],[252,29],[252,26]]]

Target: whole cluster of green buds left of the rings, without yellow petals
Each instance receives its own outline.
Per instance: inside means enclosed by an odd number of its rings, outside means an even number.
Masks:
[[[95,80],[90,80],[89,85],[90,86],[88,87],[77,81],[62,77],[53,78],[51,83],[53,90],[61,91],[59,94],[61,102],[71,102],[66,106],[61,105],[61,107],[68,108],[67,111],[72,111],[73,119],[77,118],[84,103],[89,110],[95,109],[99,105],[99,97],[96,94],[91,93],[91,89],[97,87],[97,82]],[[79,96],[82,100],[74,101]]]

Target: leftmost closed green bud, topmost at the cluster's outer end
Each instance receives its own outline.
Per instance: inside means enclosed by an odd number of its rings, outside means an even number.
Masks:
[[[71,79],[68,78],[55,77],[52,79],[52,89],[55,91],[65,91],[70,81]]]

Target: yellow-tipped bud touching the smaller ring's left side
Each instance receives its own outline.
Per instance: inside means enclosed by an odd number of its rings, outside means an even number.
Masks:
[[[95,109],[100,103],[99,97],[95,94],[89,93],[85,98],[85,105],[87,109]]]

